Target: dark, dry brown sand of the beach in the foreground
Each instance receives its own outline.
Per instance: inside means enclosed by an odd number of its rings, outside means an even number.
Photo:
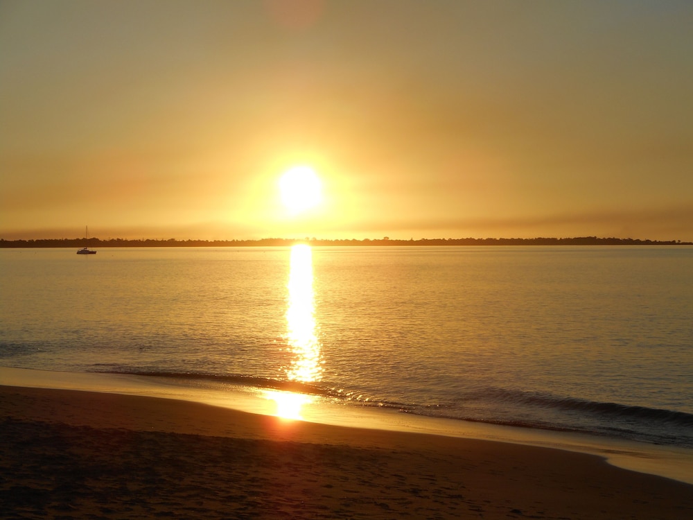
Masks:
[[[692,519],[693,486],[578,453],[0,386],[0,518]]]

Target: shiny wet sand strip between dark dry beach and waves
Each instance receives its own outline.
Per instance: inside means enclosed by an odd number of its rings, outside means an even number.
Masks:
[[[439,417],[424,417],[370,407],[334,404],[326,399],[229,385],[100,372],[59,372],[0,366],[0,385],[105,392],[173,399],[217,406],[261,416],[299,419],[328,426],[439,435],[459,439],[544,447],[604,458],[609,465],[693,485],[693,450],[597,435],[513,428]]]

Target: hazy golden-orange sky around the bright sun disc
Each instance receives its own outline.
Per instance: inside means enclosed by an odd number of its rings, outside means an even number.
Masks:
[[[693,241],[693,3],[0,0],[0,238]],[[312,166],[298,216],[277,181]]]

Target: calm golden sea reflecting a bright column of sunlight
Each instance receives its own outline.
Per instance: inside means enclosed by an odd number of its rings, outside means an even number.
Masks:
[[[693,448],[693,248],[0,250],[0,365]]]

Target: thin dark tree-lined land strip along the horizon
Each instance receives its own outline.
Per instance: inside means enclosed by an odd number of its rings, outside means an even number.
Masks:
[[[693,245],[680,240],[658,241],[641,239],[598,238],[580,236],[568,239],[260,239],[260,240],[176,240],[176,239],[0,239],[0,248],[239,248],[290,246],[296,243],[308,245]]]

